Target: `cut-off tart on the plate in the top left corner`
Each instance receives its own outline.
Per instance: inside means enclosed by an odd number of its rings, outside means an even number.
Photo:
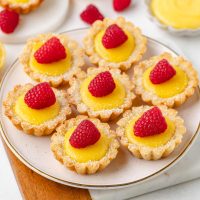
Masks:
[[[0,5],[19,14],[28,14],[35,10],[43,0],[0,0]]]

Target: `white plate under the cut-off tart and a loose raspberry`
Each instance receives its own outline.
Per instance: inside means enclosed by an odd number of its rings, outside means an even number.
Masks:
[[[69,0],[44,0],[36,10],[20,15],[20,23],[14,33],[0,31],[0,40],[5,43],[22,43],[28,38],[56,30],[66,19]]]

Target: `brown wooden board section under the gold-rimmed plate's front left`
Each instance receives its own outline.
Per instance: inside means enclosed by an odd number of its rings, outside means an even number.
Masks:
[[[17,184],[25,200],[90,200],[88,190],[50,181],[26,167],[5,145]]]

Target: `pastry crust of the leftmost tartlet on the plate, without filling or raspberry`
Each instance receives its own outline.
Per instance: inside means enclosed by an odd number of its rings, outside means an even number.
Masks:
[[[26,94],[34,85],[28,83],[25,85],[17,85],[14,89],[8,93],[6,100],[4,101],[5,115],[12,121],[12,123],[25,133],[36,136],[43,136],[51,134],[56,127],[61,124],[67,116],[71,114],[71,108],[69,107],[67,94],[62,90],[53,89],[56,100],[59,103],[59,112],[56,117],[49,119],[40,124],[30,123],[23,120],[16,112],[15,105],[18,99]]]

